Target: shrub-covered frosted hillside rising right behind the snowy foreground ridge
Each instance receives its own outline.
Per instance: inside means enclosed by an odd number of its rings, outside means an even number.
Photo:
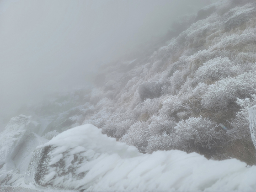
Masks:
[[[254,164],[247,109],[256,104],[255,5],[209,5],[150,57],[105,66],[83,123],[140,152],[180,149]]]

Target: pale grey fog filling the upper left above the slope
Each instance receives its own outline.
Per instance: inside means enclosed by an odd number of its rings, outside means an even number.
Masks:
[[[216,0],[0,0],[1,118],[90,84],[97,66]]]

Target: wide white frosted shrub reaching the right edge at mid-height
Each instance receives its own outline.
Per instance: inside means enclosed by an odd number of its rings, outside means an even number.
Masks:
[[[225,109],[237,97],[250,96],[256,88],[256,72],[250,71],[236,77],[228,77],[209,85],[208,91],[202,96],[202,106],[210,110]]]

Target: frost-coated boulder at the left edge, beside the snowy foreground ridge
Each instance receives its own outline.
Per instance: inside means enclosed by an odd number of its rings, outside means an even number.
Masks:
[[[32,151],[48,141],[37,131],[38,123],[31,116],[19,115],[0,133],[0,186],[16,187],[24,181]]]

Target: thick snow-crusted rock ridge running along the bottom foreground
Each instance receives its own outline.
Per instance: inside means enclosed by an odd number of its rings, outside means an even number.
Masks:
[[[236,159],[207,160],[179,150],[141,154],[85,124],[38,146],[16,186],[39,191],[253,192],[255,178],[256,166],[248,168]]]

